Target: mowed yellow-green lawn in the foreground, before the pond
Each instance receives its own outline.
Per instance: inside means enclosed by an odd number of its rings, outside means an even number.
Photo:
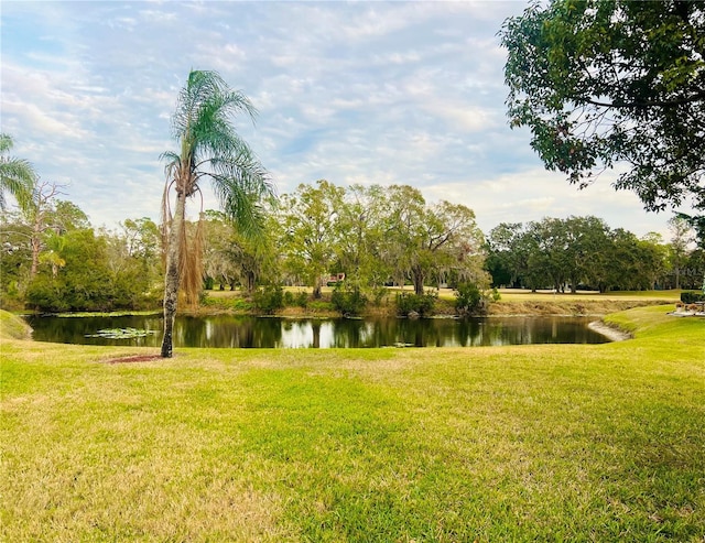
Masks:
[[[705,319],[671,308],[597,346],[6,337],[0,540],[702,542]]]

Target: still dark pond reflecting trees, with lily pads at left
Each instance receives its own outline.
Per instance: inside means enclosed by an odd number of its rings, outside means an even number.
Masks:
[[[147,316],[28,316],[37,341],[159,347],[163,319]],[[521,344],[599,344],[589,317],[291,319],[231,315],[180,316],[174,347],[329,348],[474,347]],[[126,329],[126,334],[112,334]],[[134,330],[142,332],[134,337]]]

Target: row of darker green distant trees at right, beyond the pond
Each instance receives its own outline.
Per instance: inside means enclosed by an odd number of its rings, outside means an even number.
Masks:
[[[653,290],[699,289],[705,274],[702,248],[687,222],[670,221],[672,239],[638,238],[611,229],[597,217],[502,222],[487,237],[486,269],[497,286]]]

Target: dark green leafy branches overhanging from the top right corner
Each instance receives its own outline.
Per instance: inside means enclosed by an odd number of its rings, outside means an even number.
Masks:
[[[581,187],[620,163],[647,209],[705,209],[703,36],[701,2],[532,2],[501,31],[510,124]]]

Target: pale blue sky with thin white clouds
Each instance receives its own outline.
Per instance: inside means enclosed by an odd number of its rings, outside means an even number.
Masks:
[[[279,194],[321,178],[408,184],[466,205],[486,234],[594,215],[668,240],[672,214],[644,211],[611,172],[577,189],[509,128],[498,32],[527,6],[2,0],[1,130],[95,227],[159,220],[177,94],[191,69],[212,69],[257,107],[238,132]]]

